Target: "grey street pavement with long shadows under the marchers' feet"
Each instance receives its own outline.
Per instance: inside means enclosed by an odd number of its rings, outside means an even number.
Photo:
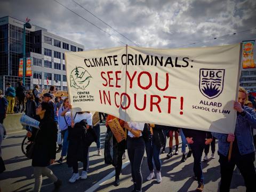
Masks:
[[[26,135],[26,131],[9,133],[7,139],[2,143],[2,157],[5,162],[6,171],[0,174],[0,187],[3,192],[9,191],[33,191],[34,177],[33,167],[31,167],[31,160],[27,159],[21,151],[21,142]],[[101,146],[104,147],[104,140],[106,136],[106,127],[101,126]],[[179,138],[181,151],[181,139]],[[174,142],[173,142],[174,143]],[[218,149],[218,140],[216,149]],[[169,149],[166,148],[167,151]],[[188,149],[187,149],[188,150]],[[211,153],[211,149],[210,149]],[[115,177],[114,167],[105,165],[104,151],[102,149],[102,156],[97,155],[96,143],[90,147],[90,167],[86,180],[78,180],[75,183],[69,183],[71,177],[71,168],[66,163],[62,165],[55,163],[50,166],[50,169],[59,179],[62,180],[63,185],[59,191],[132,191],[133,182],[131,177],[131,166],[129,158],[123,160],[125,166],[120,176],[120,186],[115,187],[113,182]],[[59,159],[60,154],[57,154]],[[215,151],[215,159],[202,162],[204,173],[204,191],[218,191],[220,182],[220,166],[218,162],[217,151]],[[166,154],[161,154],[162,161],[162,183],[157,183],[156,179],[147,181],[146,177],[149,173],[147,166],[147,157],[143,159],[141,172],[143,177],[142,191],[194,191],[197,187],[197,181],[193,176],[193,157],[187,159],[185,163],[180,162],[181,153],[169,159]],[[82,172],[82,163],[79,163],[79,171]],[[110,179],[108,179],[110,178]],[[99,183],[100,181],[100,183]],[[41,191],[52,191],[54,189],[50,179],[43,177],[43,185]],[[233,180],[230,186],[230,191],[245,191],[244,181],[235,168]]]

